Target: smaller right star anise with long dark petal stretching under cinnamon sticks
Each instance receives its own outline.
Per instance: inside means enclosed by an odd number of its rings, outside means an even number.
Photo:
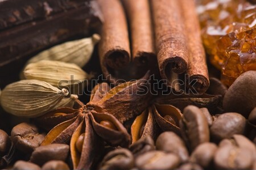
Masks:
[[[136,142],[143,136],[151,136],[156,139],[161,131],[174,131],[177,135],[181,135],[179,121],[183,114],[180,110],[188,105],[195,105],[207,107],[214,113],[220,100],[220,95],[209,94],[159,96],[151,106],[134,119],[131,125],[132,142]]]

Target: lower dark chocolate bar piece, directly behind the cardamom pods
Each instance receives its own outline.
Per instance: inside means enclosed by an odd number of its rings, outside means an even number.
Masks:
[[[97,3],[0,32],[0,67],[74,36],[88,36],[101,25]]]

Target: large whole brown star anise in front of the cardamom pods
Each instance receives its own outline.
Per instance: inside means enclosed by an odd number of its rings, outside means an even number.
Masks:
[[[77,101],[79,109],[59,108],[36,118],[38,125],[48,130],[52,128],[42,146],[70,144],[74,169],[92,167],[98,150],[104,146],[103,141],[110,146],[128,147],[130,135],[121,122],[135,117],[150,103],[151,94],[145,93],[148,78],[149,73],[141,80],[126,82],[113,89],[106,83],[98,84],[89,103],[84,105]]]

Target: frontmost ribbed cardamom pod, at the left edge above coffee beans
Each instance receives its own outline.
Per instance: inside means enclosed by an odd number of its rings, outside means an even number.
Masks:
[[[0,101],[8,113],[33,118],[51,111],[68,93],[44,81],[21,80],[7,85]]]

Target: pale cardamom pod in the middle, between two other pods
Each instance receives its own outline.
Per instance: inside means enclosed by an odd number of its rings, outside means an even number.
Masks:
[[[30,63],[23,73],[26,79],[46,81],[58,88],[82,84],[84,80],[92,78],[90,74],[84,72],[76,64],[49,60]]]

